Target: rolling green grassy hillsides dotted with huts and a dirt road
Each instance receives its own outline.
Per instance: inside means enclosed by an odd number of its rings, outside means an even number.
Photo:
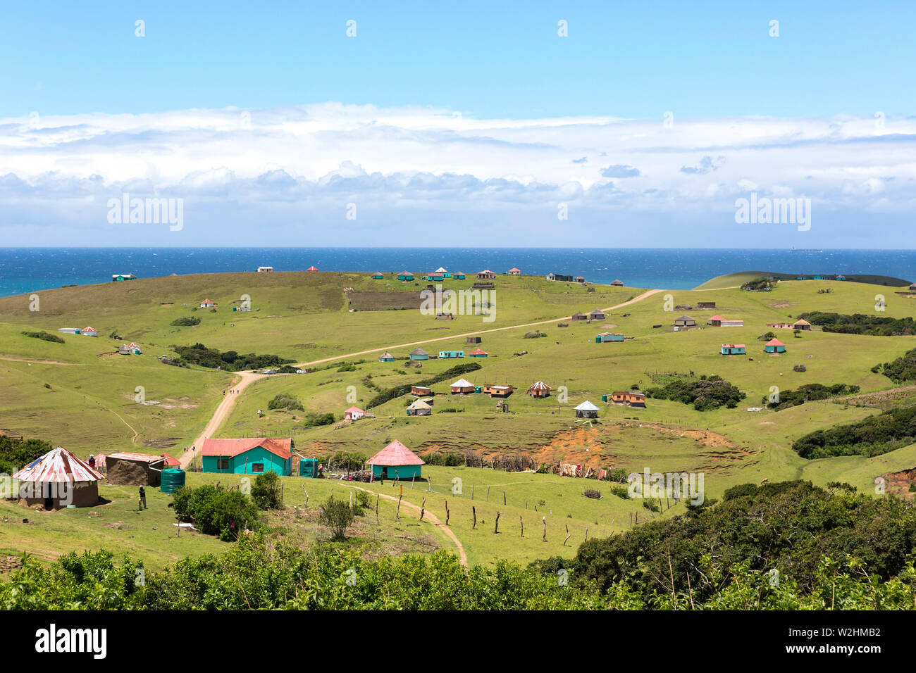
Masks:
[[[378,521],[374,511],[358,517],[351,544],[364,548],[367,556],[435,548],[458,553],[442,526],[426,516],[418,520],[419,511],[410,505],[423,506],[425,498],[425,512],[442,524],[449,518],[449,531],[472,564],[572,556],[586,527],[589,537],[607,536],[626,529],[636,516],[642,522],[685,511],[684,505],[668,502],[663,513],[650,513],[642,501],[613,494],[614,484],[607,482],[488,469],[498,457],[515,456],[533,468],[573,463],[627,472],[700,472],[707,498],[721,497],[739,483],[798,478],[822,485],[848,482],[873,493],[878,475],[916,466],[916,445],[875,458],[814,461],[791,450],[794,440],[814,430],[912,404],[911,385],[895,385],[871,370],[916,347],[916,336],[767,326],[791,323],[812,310],[871,313],[878,296],[884,300],[883,315],[902,318],[916,313],[916,299],[896,294],[899,287],[849,281],[784,280],[769,292],[736,287],[754,277],[759,275],[736,274],[714,278],[696,290],[646,292],[499,276],[490,322],[474,315],[435,320],[418,309],[397,309],[417,303],[426,282],[418,277],[416,283],[400,283],[387,274],[382,280],[345,273],[151,278],[41,291],[37,311],[29,310],[27,296],[3,298],[0,430],[48,440],[83,457],[114,450],[178,456],[200,438],[225,401],[227,414],[214,437],[291,437],[301,455],[322,458],[338,452],[368,457],[400,440],[429,461],[449,454],[470,465],[482,463],[483,468],[427,465],[423,476],[429,481],[398,485],[284,477],[289,506],[268,516],[272,535],[308,548],[323,535],[315,507],[332,492],[349,497],[347,492],[358,486],[397,500],[403,486],[402,516],[395,514],[396,501],[381,497]],[[442,283],[453,290],[473,285],[474,277]],[[201,309],[202,299],[213,300],[215,309]],[[233,310],[248,300],[251,310]],[[715,308],[697,309],[701,301],[714,301]],[[618,305],[623,306],[611,309]],[[593,309],[610,310],[604,319],[569,320],[577,311]],[[674,331],[674,319],[685,313],[697,327]],[[744,320],[744,325],[707,325],[714,315]],[[182,318],[201,322],[171,324]],[[560,322],[568,326],[560,327]],[[97,328],[99,337],[60,334],[63,343],[58,343],[22,333],[59,334],[61,327],[86,325]],[[594,342],[605,331],[626,338]],[[539,332],[543,336],[531,338]],[[786,344],[786,353],[764,353],[768,332]],[[109,336],[115,333],[123,340]],[[467,342],[471,334],[481,342]],[[118,346],[127,342],[136,342],[143,353],[118,354]],[[726,342],[744,343],[747,354],[720,354]],[[227,398],[238,374],[159,360],[174,359],[174,347],[194,343],[223,352],[278,355],[308,372],[266,375],[241,395]],[[433,358],[410,362],[409,353],[418,345]],[[440,351],[466,354],[475,348],[487,357],[435,358]],[[378,362],[385,351],[394,355],[394,362]],[[469,363],[481,365],[462,374],[473,385],[513,385],[515,392],[506,400],[483,393],[453,395],[452,380],[444,380],[431,386],[431,416],[407,415],[415,399],[409,394],[411,384]],[[602,401],[614,391],[651,392],[677,378],[712,375],[735,385],[745,398],[736,407],[705,411],[651,396],[645,408]],[[526,395],[537,381],[551,386],[551,396]],[[857,385],[860,391],[779,411],[766,408],[768,396],[813,383]],[[403,394],[368,408],[373,397],[391,388]],[[277,396],[294,399],[302,409],[269,408]],[[573,407],[585,400],[599,407],[598,418],[576,418]],[[372,416],[344,421],[344,409],[353,406]],[[314,424],[328,413],[334,415],[333,423]],[[226,483],[226,475],[191,472],[189,483],[215,483],[221,476]],[[455,483],[461,483],[460,492],[453,490]],[[601,497],[585,497],[586,488],[597,489]],[[297,509],[305,503],[306,490],[309,508]],[[224,548],[225,543],[199,534],[174,537],[169,497],[149,491],[150,509],[144,513],[135,511],[136,489],[104,483],[101,494],[109,502],[92,508],[94,514],[29,512],[4,501],[0,547],[7,553],[26,549],[43,559],[71,548],[106,547],[148,560],[151,566]],[[547,542],[542,541],[542,516],[547,517]],[[28,524],[21,523],[23,517],[29,518]]]

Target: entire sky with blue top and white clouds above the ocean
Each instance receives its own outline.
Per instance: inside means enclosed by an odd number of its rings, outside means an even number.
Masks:
[[[8,4],[0,235],[117,244],[106,204],[131,192],[182,199],[187,226],[124,244],[341,244],[339,226],[398,244],[434,222],[430,244],[772,247],[735,222],[754,191],[812,199],[814,226],[778,246],[910,246],[914,19],[902,2]]]

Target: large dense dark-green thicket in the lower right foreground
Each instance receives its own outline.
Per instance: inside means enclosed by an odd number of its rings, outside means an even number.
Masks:
[[[721,502],[707,499],[686,515],[588,540],[573,560],[534,567],[546,574],[565,568],[609,595],[655,595],[665,607],[677,601],[680,607],[745,609],[757,604],[758,591],[767,594],[761,599],[766,607],[889,607],[881,604],[884,596],[866,598],[857,581],[864,579],[886,583],[892,603],[908,596],[910,604],[904,598],[900,606],[913,609],[914,549],[916,512],[898,498],[856,494],[846,484],[747,483],[725,492]],[[768,577],[779,586],[770,586]],[[843,595],[828,593],[825,602],[824,587],[833,579]]]

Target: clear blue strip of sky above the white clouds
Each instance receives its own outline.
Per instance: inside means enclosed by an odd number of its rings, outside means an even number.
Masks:
[[[529,118],[905,113],[914,25],[911,2],[7,3],[0,115],[325,101]]]

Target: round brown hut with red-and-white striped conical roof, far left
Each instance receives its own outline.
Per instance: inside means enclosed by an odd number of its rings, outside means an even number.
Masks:
[[[19,504],[46,510],[67,505],[91,507],[99,503],[99,480],[104,474],[59,446],[31,461],[15,474]]]

